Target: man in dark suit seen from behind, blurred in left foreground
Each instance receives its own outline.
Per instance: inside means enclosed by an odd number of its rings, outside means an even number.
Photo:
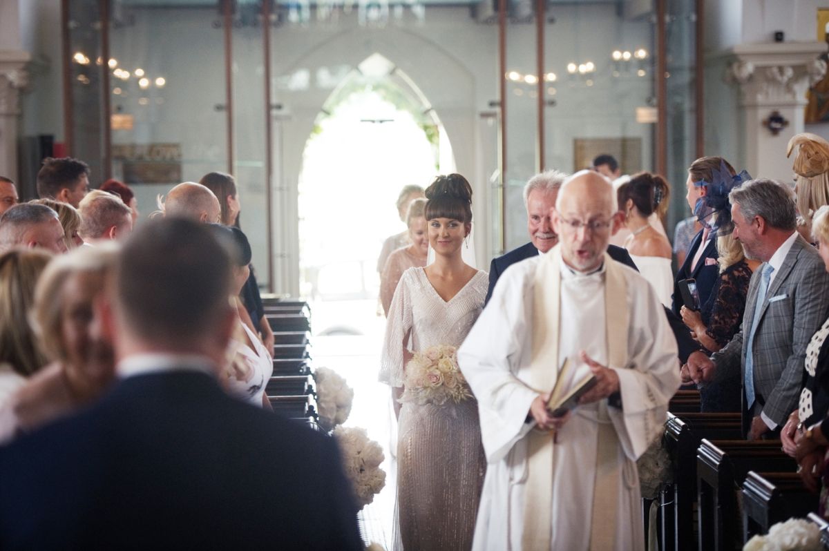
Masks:
[[[230,267],[195,222],[128,240],[96,305],[119,381],[0,449],[0,549],[362,549],[335,442],[217,384]]]

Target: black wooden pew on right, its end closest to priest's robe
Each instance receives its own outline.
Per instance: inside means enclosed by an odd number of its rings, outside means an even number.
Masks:
[[[739,438],[741,430],[739,413],[668,413],[665,446],[676,471],[658,497],[662,551],[696,548],[696,448],[702,438]]]

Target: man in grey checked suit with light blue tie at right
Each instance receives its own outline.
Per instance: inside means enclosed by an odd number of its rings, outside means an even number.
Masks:
[[[797,234],[784,184],[747,181],[729,198],[734,238],[749,259],[763,263],[751,278],[739,333],[710,359],[695,352],[682,371],[700,383],[742,366],[743,425],[754,440],[776,436],[797,408],[806,347],[829,313],[829,274]]]

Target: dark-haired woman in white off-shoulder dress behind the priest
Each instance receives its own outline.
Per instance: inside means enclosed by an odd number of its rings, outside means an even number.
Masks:
[[[624,247],[662,304],[671,307],[673,249],[667,237],[647,221],[654,213],[659,218],[665,213],[670,195],[667,182],[662,176],[639,172],[619,186],[616,195],[619,209],[625,214],[625,227],[631,232]]]

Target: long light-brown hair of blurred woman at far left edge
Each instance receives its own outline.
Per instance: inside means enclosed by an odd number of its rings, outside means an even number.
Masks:
[[[46,365],[28,312],[35,284],[52,255],[42,249],[12,249],[0,254],[0,362],[28,377]]]

